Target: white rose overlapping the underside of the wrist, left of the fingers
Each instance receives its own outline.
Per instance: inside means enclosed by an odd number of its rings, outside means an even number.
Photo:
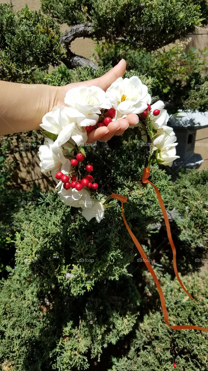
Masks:
[[[40,127],[58,135],[54,147],[60,147],[69,139],[72,144],[80,146],[87,141],[87,132],[78,125],[77,120],[84,118],[85,116],[74,108],[55,106],[51,112],[44,115]]]

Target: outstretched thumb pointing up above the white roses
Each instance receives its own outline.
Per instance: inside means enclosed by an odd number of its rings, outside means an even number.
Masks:
[[[105,73],[105,75],[98,77],[97,79],[93,79],[90,81],[84,81],[85,86],[99,86],[99,88],[106,91],[109,86],[118,78],[124,75],[126,69],[126,61],[121,59],[120,62],[114,67],[111,68],[110,71]]]

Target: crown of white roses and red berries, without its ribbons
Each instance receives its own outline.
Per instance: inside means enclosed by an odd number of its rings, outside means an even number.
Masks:
[[[154,162],[171,166],[179,157],[164,103],[151,105],[148,88],[137,76],[118,78],[106,92],[97,86],[70,89],[64,103],[67,106],[54,106],[44,115],[40,125],[45,136],[38,152],[41,171],[51,171],[58,180],[60,199],[68,206],[81,207],[88,221],[95,217],[99,223],[109,200],[99,195],[98,184],[86,174],[93,166],[82,164],[86,155],[81,146],[87,142],[88,132],[134,113],[140,121],[132,128],[140,126],[142,139],[148,144],[148,167]]]

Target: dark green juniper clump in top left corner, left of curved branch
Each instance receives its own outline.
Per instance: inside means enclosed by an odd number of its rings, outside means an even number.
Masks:
[[[53,19],[26,6],[16,14],[0,4],[0,79],[35,82],[33,70],[58,66],[64,55],[60,29]]]

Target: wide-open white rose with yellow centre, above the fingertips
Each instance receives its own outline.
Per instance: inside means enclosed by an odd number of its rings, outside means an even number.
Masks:
[[[141,114],[151,102],[147,86],[137,76],[130,79],[119,77],[107,89],[106,96],[116,111],[115,118],[124,118],[130,113]]]

